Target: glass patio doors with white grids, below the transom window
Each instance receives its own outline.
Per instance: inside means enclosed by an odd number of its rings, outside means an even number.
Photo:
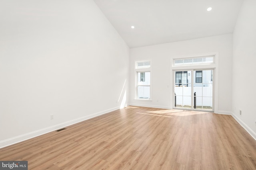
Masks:
[[[213,111],[214,70],[174,71],[174,108]]]

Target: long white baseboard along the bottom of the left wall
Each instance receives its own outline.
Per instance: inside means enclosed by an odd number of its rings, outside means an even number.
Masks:
[[[44,129],[40,129],[40,130],[37,130],[37,131],[33,131],[33,132],[30,132],[30,133],[26,133],[26,134],[23,134],[23,135],[12,137],[10,139],[0,141],[0,148],[7,147],[9,145],[13,145],[15,143],[19,143],[19,142],[22,142],[22,141],[26,141],[28,139],[31,139],[31,138],[34,138],[34,137],[37,137],[37,136],[40,136],[40,135],[44,135],[44,134],[52,132],[52,131],[56,131],[56,130],[61,129],[63,127],[67,127],[69,125],[73,125],[75,123],[79,123],[81,121],[85,121],[87,119],[91,119],[93,117],[103,115],[103,114],[109,113],[109,112],[117,110],[117,109],[120,109],[120,107],[114,107],[114,108],[111,108],[111,109],[107,109],[107,110],[104,110],[104,111],[100,111],[100,112],[97,112],[97,113],[86,115],[86,116],[80,117],[78,119],[73,119],[73,120],[70,120],[70,121],[66,121],[66,122],[60,123],[58,125],[53,125],[53,126],[50,126],[50,127],[46,127]]]

